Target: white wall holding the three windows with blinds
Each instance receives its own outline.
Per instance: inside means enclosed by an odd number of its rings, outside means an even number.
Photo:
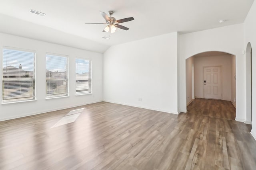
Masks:
[[[16,117],[24,117],[57,109],[102,101],[102,57],[94,53],[72,47],[46,43],[33,39],[0,33],[0,63],[2,63],[2,47],[14,47],[36,51],[36,101],[13,104],[0,104],[0,121]],[[46,52],[68,55],[69,59],[69,97],[45,99],[46,96]],[[75,96],[75,57],[92,60],[92,91],[93,94]],[[0,64],[2,70],[2,64]],[[2,71],[0,72],[2,77]],[[2,81],[0,82],[2,87]],[[1,90],[2,100],[2,90]]]

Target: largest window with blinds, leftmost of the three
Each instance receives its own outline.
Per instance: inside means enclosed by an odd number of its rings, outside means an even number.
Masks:
[[[35,100],[35,56],[33,51],[4,47],[3,103]]]

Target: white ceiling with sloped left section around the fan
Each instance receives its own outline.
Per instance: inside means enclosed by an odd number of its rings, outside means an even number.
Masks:
[[[0,32],[103,53],[111,45],[179,31],[188,33],[243,23],[253,0],[0,0]],[[46,14],[36,16],[30,9]],[[103,39],[100,11],[122,23]],[[219,23],[219,20],[227,20]]]

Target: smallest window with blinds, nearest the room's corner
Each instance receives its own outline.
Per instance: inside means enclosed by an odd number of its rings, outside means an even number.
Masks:
[[[92,92],[91,61],[76,59],[76,95]]]

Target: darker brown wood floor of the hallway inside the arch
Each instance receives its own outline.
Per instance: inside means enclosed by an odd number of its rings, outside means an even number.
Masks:
[[[187,106],[188,113],[206,115],[234,120],[236,118],[236,108],[230,101],[212,99],[194,99]]]

